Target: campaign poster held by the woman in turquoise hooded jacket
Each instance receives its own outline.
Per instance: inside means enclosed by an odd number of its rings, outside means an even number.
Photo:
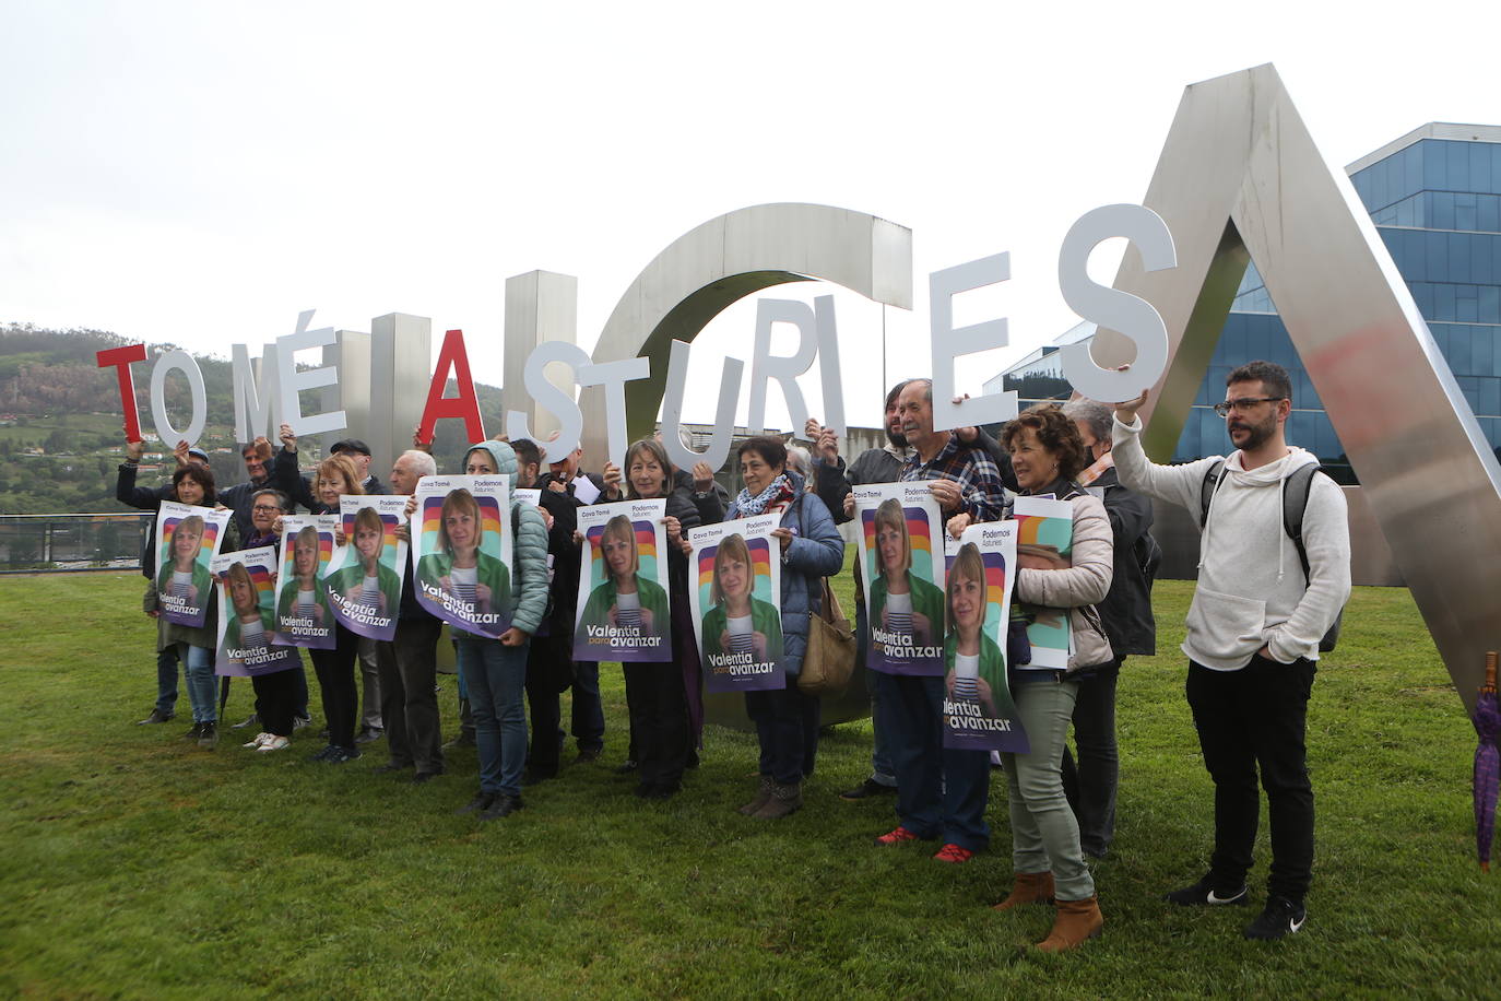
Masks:
[[[510,629],[510,477],[423,476],[416,497],[417,600],[456,629],[498,638]]]

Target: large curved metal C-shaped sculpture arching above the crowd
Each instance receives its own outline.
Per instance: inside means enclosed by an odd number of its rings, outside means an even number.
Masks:
[[[763,288],[820,279],[911,309],[913,231],[830,206],[752,206],[710,219],[657,254],[594,345],[594,362],[651,359],[651,377],[626,384],[630,437],[651,434],[672,341],[692,342],[729,303]],[[603,455],[603,393],[585,389],[579,405],[584,453]]]

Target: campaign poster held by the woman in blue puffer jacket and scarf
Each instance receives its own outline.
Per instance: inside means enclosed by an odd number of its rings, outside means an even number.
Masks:
[[[787,687],[782,671],[781,515],[690,528],[693,635],[710,692]]]

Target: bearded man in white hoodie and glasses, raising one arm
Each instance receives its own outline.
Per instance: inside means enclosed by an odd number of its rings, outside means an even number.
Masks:
[[[1282,938],[1303,927],[1313,869],[1313,786],[1304,720],[1319,639],[1349,599],[1349,525],[1334,480],[1313,474],[1303,513],[1304,576],[1283,522],[1283,491],[1318,459],[1291,447],[1285,429],[1292,384],[1271,362],[1250,362],[1225,380],[1216,411],[1237,447],[1186,465],[1156,465],[1141,447],[1136,411],[1147,393],[1115,405],[1115,468],[1129,489],[1183,504],[1199,530],[1199,579],[1183,653],[1187,696],[1204,767],[1214,780],[1214,854],[1198,882],[1166,896],[1174,903],[1247,900],[1246,873],[1256,840],[1261,785],[1271,825],[1267,905],[1246,938]],[[1213,489],[1202,515],[1205,480]]]

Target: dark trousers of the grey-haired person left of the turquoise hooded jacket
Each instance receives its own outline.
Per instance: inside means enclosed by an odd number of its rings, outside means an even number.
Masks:
[[[386,723],[390,764],[416,765],[419,773],[443,773],[443,731],[438,722],[437,618],[402,618],[396,635],[375,645],[380,668],[380,714]]]

